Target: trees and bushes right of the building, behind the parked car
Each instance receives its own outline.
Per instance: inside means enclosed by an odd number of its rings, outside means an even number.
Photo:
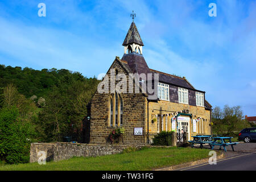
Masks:
[[[246,127],[250,127],[250,123],[243,118],[241,106],[229,107],[224,109],[216,106],[212,113],[213,134],[236,137],[237,134]]]

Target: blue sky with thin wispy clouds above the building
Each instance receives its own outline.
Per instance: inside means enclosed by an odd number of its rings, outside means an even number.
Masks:
[[[148,67],[185,76],[213,106],[256,115],[256,1],[2,0],[0,64],[97,77],[122,57],[133,10]]]

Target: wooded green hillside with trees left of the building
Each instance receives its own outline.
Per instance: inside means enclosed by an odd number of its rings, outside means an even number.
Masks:
[[[28,162],[31,142],[79,137],[98,82],[67,69],[0,65],[0,163]]]

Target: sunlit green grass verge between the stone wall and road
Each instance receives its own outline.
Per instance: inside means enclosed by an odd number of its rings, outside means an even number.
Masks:
[[[182,147],[144,147],[125,154],[98,157],[73,157],[60,162],[13,164],[0,166],[0,170],[151,170],[160,167],[208,158],[209,149]]]

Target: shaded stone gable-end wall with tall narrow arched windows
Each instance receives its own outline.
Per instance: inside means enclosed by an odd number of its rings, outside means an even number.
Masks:
[[[110,67],[127,76],[126,84],[129,85],[129,77],[122,64],[116,59]],[[110,78],[110,71],[106,73]],[[119,81],[116,81],[116,83]],[[115,84],[116,84],[115,83]],[[110,85],[110,80],[109,80]],[[134,84],[133,84],[134,85]],[[123,127],[125,133],[133,133],[134,127],[143,127],[146,121],[146,96],[142,93],[120,94],[123,101]],[[110,92],[110,88],[109,88]],[[91,120],[90,120],[90,143],[106,143],[107,137],[111,131],[117,129],[118,126],[110,126],[110,96],[112,93],[96,92],[91,102]]]

